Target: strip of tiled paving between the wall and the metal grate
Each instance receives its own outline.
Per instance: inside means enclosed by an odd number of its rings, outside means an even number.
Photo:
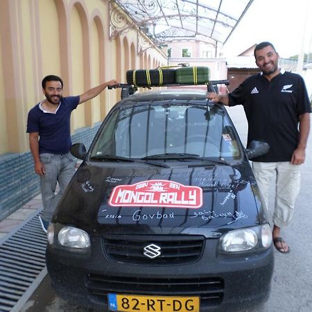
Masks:
[[[41,194],[27,202],[24,206],[13,212],[7,218],[0,221],[0,239],[6,236],[6,234],[12,232],[17,226],[31,216],[37,209],[42,207]]]

